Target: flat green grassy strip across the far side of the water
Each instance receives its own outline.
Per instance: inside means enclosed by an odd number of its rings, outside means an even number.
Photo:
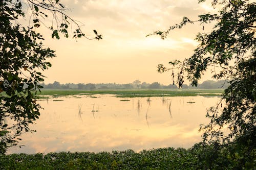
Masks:
[[[154,97],[154,96],[217,96],[223,89],[216,90],[42,90],[38,93],[40,98],[44,95],[94,95],[114,94],[119,98]]]

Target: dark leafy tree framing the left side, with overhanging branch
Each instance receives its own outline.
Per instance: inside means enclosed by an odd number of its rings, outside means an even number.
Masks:
[[[59,0],[27,0],[32,15],[29,27],[20,25],[19,18],[25,17],[22,0],[0,1],[0,154],[17,144],[24,132],[33,132],[29,124],[40,115],[36,93],[42,86],[44,76],[39,72],[51,67],[48,58],[55,57],[54,51],[45,48],[44,38],[36,33],[38,27],[46,25],[44,18],[52,15],[49,28],[52,38],[59,33],[69,36],[70,23],[76,25],[74,38],[85,37],[78,23],[65,14],[65,6]],[[94,30],[95,39],[101,35]],[[86,37],[88,38],[88,37]],[[90,39],[90,38],[88,38]]]

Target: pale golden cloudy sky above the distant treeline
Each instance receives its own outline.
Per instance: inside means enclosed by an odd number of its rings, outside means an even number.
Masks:
[[[209,32],[211,25],[196,23],[174,30],[162,40],[149,36],[157,30],[165,31],[179,23],[183,16],[196,20],[203,13],[212,12],[210,2],[197,0],[62,0],[67,14],[80,21],[87,37],[93,30],[103,35],[101,40],[60,37],[51,38],[50,30],[40,27],[45,47],[56,51],[50,59],[52,67],[44,71],[45,83],[132,83],[135,80],[168,85],[170,73],[157,72],[158,64],[183,60],[193,54],[198,32]],[[49,17],[50,18],[50,17]],[[49,22],[49,19],[46,23]],[[72,26],[74,29],[74,26]],[[70,33],[72,31],[70,30]],[[72,36],[70,36],[72,37]],[[205,74],[202,80],[211,79]],[[188,82],[185,82],[188,83]]]

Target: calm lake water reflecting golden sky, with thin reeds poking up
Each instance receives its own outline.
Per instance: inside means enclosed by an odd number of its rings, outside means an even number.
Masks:
[[[149,102],[148,98],[123,99],[113,95],[77,97],[80,98],[40,101],[45,109],[31,126],[37,132],[23,134],[19,144],[25,147],[12,147],[8,154],[189,148],[201,140],[198,129],[208,122],[206,108],[220,99],[155,97]]]

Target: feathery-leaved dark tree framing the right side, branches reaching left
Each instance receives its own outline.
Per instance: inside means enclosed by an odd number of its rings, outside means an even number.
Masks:
[[[159,64],[158,71],[172,71],[174,81],[182,87],[185,74],[197,86],[209,66],[221,68],[212,72],[212,77],[225,79],[230,84],[224,90],[220,103],[207,111],[210,123],[201,126],[204,133],[200,145],[204,148],[202,151],[207,152],[199,156],[200,168],[218,169],[225,164],[230,169],[252,169],[255,166],[256,145],[256,4],[247,0],[214,0],[211,5],[220,8],[219,12],[199,15],[195,21],[183,17],[180,24],[167,31],[150,34],[165,39],[172,30],[181,29],[187,23],[215,23],[210,33],[197,34],[199,45],[191,57],[183,62],[170,61],[170,68]],[[175,69],[178,69],[177,75],[174,74]],[[222,106],[221,102],[225,102],[225,105]],[[226,133],[223,133],[224,127],[228,127]],[[228,155],[225,159],[220,159],[222,151]]]

